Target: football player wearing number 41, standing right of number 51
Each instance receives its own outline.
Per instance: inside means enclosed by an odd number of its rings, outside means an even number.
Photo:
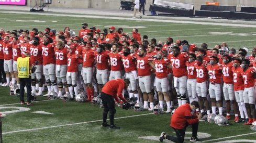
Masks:
[[[223,48],[223,47],[222,47]],[[226,108],[227,108],[227,116],[226,118],[230,119],[230,104],[232,104],[235,116],[238,120],[238,110],[237,110],[237,102],[235,101],[235,93],[234,93],[234,85],[233,85],[233,74],[232,67],[233,62],[231,61],[231,57],[229,55],[223,56],[222,61],[222,78],[223,78],[223,94],[226,100]]]

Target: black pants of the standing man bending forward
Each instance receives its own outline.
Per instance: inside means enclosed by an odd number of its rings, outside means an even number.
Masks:
[[[101,93],[103,109],[103,123],[107,122],[107,113],[109,111],[110,125],[114,125],[114,116],[116,113],[114,97],[105,93]]]

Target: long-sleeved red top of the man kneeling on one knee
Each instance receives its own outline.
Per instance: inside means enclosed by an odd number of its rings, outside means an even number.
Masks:
[[[191,114],[191,108],[188,103],[180,106],[175,110],[171,118],[170,126],[175,129],[182,129],[185,127],[186,122],[188,124],[194,124],[198,122],[198,119],[193,119],[193,115]]]

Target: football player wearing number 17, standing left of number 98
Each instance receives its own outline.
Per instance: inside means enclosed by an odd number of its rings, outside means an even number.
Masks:
[[[196,96],[196,55],[194,53],[188,54],[188,61],[186,61],[187,67],[187,95],[190,103],[192,101],[198,101]]]

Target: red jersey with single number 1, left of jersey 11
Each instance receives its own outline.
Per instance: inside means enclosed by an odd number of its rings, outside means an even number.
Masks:
[[[94,50],[93,49],[83,49],[83,67],[93,67],[94,63]]]

